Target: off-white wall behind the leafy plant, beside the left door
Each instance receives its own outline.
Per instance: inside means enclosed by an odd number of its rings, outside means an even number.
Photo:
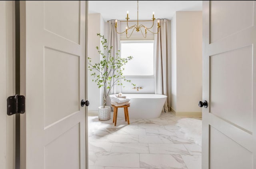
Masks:
[[[88,57],[92,58],[92,64],[100,62],[100,54],[96,50],[96,46],[101,47],[98,33],[104,35],[105,23],[101,14],[88,15]],[[88,70],[88,100],[90,106],[88,111],[97,111],[98,107],[102,105],[102,96],[98,85],[92,82],[93,77],[90,76],[93,72]]]

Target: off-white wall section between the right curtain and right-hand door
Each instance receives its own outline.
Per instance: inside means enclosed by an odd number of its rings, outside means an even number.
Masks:
[[[202,100],[202,12],[176,12],[172,28],[175,19],[176,28],[172,30],[172,38],[175,38],[176,32],[176,43],[175,39],[172,40],[172,78],[176,78],[176,84],[172,83],[172,108],[176,113],[202,112],[198,107],[198,101]]]

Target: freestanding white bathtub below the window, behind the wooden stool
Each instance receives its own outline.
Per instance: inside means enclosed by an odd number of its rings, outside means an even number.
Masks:
[[[160,94],[124,94],[131,98],[130,107],[128,107],[129,118],[157,118],[160,116],[166,95]],[[124,109],[118,108],[118,117],[124,118]]]

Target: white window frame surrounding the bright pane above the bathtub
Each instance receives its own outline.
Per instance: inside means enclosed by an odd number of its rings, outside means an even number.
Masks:
[[[120,57],[121,57],[121,50],[122,50],[122,44],[125,43],[153,43],[153,46],[155,46],[154,40],[120,40]],[[124,75],[127,79],[154,79],[154,68],[155,68],[155,48],[153,48],[153,75]]]

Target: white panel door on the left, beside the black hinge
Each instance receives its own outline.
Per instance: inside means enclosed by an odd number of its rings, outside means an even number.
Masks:
[[[25,3],[26,169],[85,169],[86,2]]]

